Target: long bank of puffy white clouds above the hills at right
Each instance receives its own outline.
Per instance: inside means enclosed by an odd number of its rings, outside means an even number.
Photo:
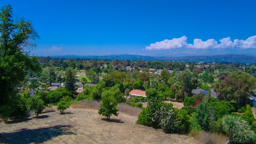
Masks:
[[[187,37],[183,36],[171,40],[165,39],[146,46],[146,50],[169,50],[172,48],[256,48],[256,35],[246,40],[234,39],[234,41],[231,41],[230,37],[226,37],[220,39],[219,43],[215,39],[208,39],[207,41],[194,39],[192,44],[187,43]]]

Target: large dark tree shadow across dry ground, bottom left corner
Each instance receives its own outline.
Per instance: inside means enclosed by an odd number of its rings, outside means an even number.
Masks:
[[[0,134],[1,143],[43,143],[57,137],[58,135],[71,135],[70,125],[52,126],[48,128],[26,129],[23,128],[17,132]]]

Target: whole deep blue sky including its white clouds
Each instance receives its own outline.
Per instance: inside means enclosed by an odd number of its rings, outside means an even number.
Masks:
[[[255,0],[0,2],[7,4],[40,36],[36,56],[256,55]]]

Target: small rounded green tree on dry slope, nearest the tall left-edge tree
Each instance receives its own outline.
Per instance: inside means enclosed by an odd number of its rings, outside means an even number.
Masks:
[[[45,109],[45,103],[37,96],[32,96],[31,98],[27,99],[27,107],[31,111],[35,111],[35,115],[38,117],[38,115]]]

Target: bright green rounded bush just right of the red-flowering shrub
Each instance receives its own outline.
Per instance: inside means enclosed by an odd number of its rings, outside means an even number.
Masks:
[[[214,101],[209,103],[210,107],[213,107],[214,119],[222,118],[224,115],[229,115],[234,111],[234,107],[229,101]]]

